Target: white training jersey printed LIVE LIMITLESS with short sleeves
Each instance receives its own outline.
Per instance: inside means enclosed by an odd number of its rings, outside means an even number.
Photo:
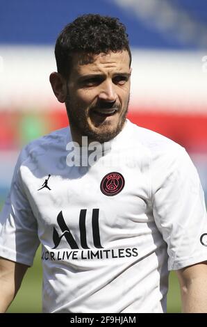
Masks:
[[[71,142],[67,127],[20,154],[1,213],[1,257],[30,266],[42,244],[43,312],[166,312],[168,270],[207,260],[192,161],[129,120],[90,157]]]

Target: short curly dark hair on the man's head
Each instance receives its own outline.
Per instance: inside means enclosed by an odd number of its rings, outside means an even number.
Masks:
[[[129,52],[131,65],[128,34],[118,18],[98,14],[82,15],[67,24],[58,36],[55,48],[57,70],[67,78],[75,53],[94,55],[122,50]]]

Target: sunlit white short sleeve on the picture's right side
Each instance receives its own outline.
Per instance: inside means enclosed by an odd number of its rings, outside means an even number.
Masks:
[[[207,260],[204,191],[188,153],[180,147],[157,156],[151,171],[154,219],[167,243],[168,269]]]

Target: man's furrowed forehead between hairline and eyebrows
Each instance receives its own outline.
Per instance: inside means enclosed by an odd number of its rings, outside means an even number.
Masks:
[[[72,70],[81,72],[85,69],[95,69],[99,65],[129,67],[129,53],[126,50],[100,54],[76,53],[72,59]]]

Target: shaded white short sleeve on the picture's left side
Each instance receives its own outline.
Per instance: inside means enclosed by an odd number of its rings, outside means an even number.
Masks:
[[[24,193],[19,173],[25,158],[26,148],[17,160],[10,193],[0,216],[0,256],[31,266],[40,241],[37,221]]]

